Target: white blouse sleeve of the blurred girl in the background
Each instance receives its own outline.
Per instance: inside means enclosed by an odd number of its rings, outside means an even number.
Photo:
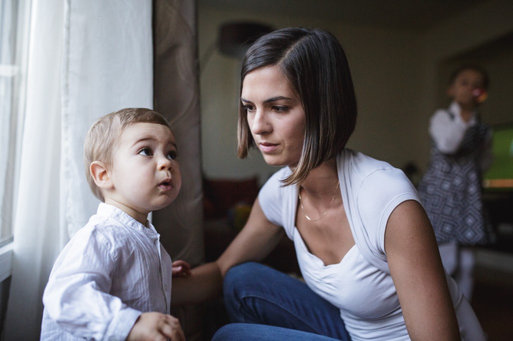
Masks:
[[[454,154],[463,141],[465,132],[472,124],[464,122],[460,115],[449,114],[446,110],[437,110],[429,123],[429,135],[444,154]]]

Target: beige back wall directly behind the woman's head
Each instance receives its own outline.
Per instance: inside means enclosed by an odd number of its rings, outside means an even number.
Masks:
[[[421,49],[417,35],[319,18],[238,13],[200,4],[200,57],[208,53],[222,23],[255,18],[275,28],[320,27],[336,35],[347,54],[359,104],[357,128],[348,146],[398,167],[408,160],[424,162],[423,156],[409,147],[417,132],[404,129],[419,110],[416,84],[420,81]],[[240,61],[219,51],[206,59],[201,59],[200,83],[203,172],[209,178],[258,175],[263,183],[278,168],[266,165],[258,151],[247,160],[236,158]]]

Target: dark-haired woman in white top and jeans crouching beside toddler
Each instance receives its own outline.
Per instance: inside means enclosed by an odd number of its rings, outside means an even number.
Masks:
[[[244,324],[214,339],[484,339],[446,279],[415,188],[398,169],[345,149],[356,115],[347,59],[330,33],[282,29],[247,51],[239,156],[257,146],[285,167],[219,260],[173,281],[180,302],[203,299],[225,278],[230,319]],[[306,284],[245,263],[263,259],[283,233]]]

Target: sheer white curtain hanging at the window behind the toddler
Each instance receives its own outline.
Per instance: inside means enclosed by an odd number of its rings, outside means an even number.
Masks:
[[[97,118],[152,108],[151,0],[33,0],[14,261],[4,340],[39,339],[42,294],[96,211],[84,136]]]

